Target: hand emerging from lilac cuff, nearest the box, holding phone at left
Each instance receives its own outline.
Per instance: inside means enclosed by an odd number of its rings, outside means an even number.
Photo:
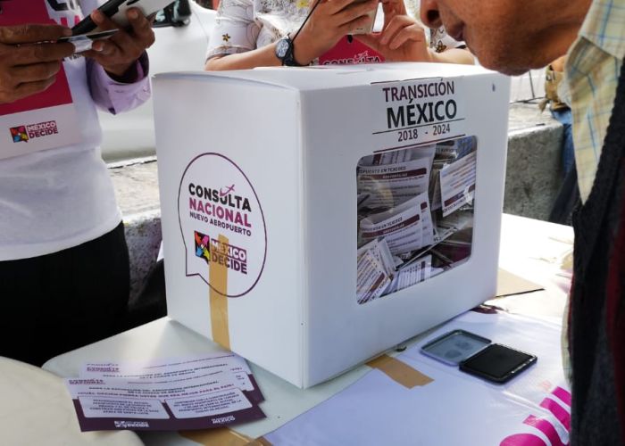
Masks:
[[[96,40],[91,50],[83,53],[102,65],[104,70],[112,78],[127,80],[129,70],[133,70],[137,59],[146,51],[146,48],[154,44],[154,31],[152,24],[137,8],[130,8],[128,12],[130,29],[120,29],[112,37]],[[97,27],[102,30],[120,28],[114,21],[106,17],[100,11],[91,13]]]

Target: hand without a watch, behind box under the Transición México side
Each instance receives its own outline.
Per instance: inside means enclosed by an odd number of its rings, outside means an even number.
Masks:
[[[354,36],[384,56],[387,62],[432,62],[425,29],[406,10],[403,0],[385,0],[380,33]]]

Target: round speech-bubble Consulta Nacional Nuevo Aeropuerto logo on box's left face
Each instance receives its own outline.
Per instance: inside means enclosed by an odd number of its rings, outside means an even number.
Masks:
[[[267,230],[245,173],[219,153],[203,153],[187,165],[178,196],[187,276],[228,297],[249,293],[262,275]]]

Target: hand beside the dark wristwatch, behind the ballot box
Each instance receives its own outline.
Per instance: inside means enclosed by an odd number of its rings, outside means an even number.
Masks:
[[[321,4],[312,12],[304,28],[294,40],[296,62],[306,64],[326,53],[354,29],[366,26],[371,11],[379,0],[318,0]],[[316,3],[316,2],[315,2]],[[314,3],[311,4],[311,9]]]

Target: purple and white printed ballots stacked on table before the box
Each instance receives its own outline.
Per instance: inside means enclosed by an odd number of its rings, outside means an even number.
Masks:
[[[152,364],[91,363],[65,383],[82,431],[207,429],[265,417],[246,360],[228,352]]]

